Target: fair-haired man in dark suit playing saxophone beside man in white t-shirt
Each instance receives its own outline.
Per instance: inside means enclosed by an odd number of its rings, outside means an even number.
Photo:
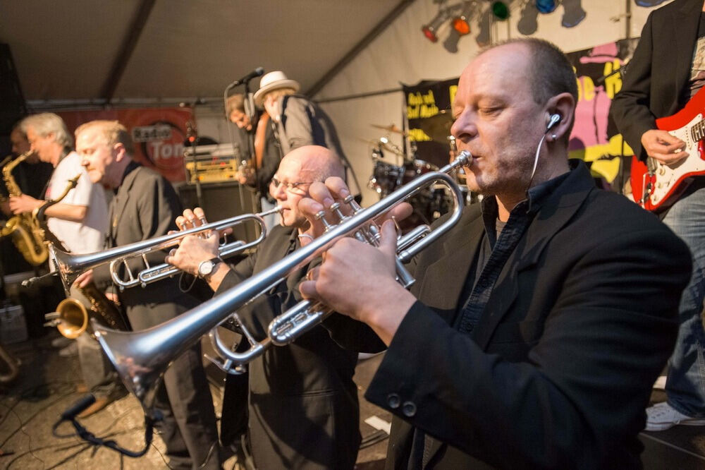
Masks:
[[[110,226],[106,248],[166,235],[176,229],[174,219],[181,205],[171,183],[132,158],[133,143],[118,121],[91,121],[76,129],[76,151],[91,181],[115,192],[109,207]],[[161,261],[161,253],[147,258]],[[133,260],[135,267],[141,260]],[[88,271],[76,280],[80,287],[90,280],[99,287],[111,282],[108,266]],[[124,276],[123,276],[124,279]],[[125,307],[133,330],[164,323],[198,304],[180,291],[178,277],[108,293]],[[164,419],[157,423],[166,445],[170,468],[220,469],[218,433],[213,400],[201,363],[200,344],[176,358],[164,373],[155,407]]]

